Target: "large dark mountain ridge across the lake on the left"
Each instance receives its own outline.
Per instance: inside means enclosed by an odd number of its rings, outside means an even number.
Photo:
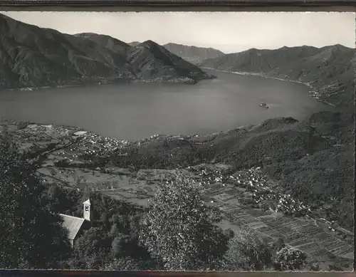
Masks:
[[[169,51],[159,50],[162,46],[157,43],[156,47],[145,48],[147,57],[143,59],[142,51],[110,36],[68,35],[2,14],[0,32],[0,88],[130,80],[196,83],[211,78],[197,66]],[[135,65],[130,61],[135,61]],[[160,68],[152,70],[148,64],[159,64]]]

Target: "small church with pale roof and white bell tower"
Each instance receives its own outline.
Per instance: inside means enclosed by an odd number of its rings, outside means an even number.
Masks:
[[[80,234],[83,234],[84,230],[88,230],[91,227],[90,199],[83,202],[83,205],[83,218],[61,214],[63,226],[68,229],[68,239],[72,247],[75,239],[77,239]]]

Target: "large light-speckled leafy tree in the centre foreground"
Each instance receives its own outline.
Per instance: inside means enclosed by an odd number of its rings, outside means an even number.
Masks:
[[[215,225],[220,220],[192,182],[177,174],[152,198],[142,219],[140,241],[166,269],[219,268],[228,240]]]

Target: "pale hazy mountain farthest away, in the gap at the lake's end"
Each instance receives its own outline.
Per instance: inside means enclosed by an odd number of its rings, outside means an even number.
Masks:
[[[224,55],[223,52],[214,48],[185,46],[177,43],[164,44],[164,48],[176,54],[177,56],[184,58],[184,60],[194,64],[200,63],[207,58],[217,58]]]

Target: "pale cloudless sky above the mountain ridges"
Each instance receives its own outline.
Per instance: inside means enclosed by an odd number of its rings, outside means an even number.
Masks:
[[[355,48],[352,12],[45,12],[7,11],[13,19],[63,33],[101,33],[125,41],[152,40],[219,49]]]

